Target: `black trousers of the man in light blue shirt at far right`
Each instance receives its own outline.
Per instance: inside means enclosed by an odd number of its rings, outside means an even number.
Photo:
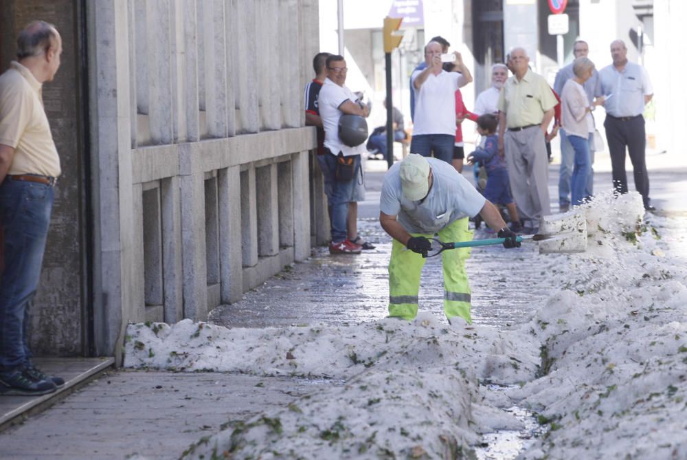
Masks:
[[[642,195],[644,208],[649,206],[649,174],[646,173],[646,132],[644,117],[638,115],[629,120],[606,116],[604,122],[608,149],[613,168],[613,190],[627,193],[625,173],[625,148],[630,155],[635,177],[635,189]]]

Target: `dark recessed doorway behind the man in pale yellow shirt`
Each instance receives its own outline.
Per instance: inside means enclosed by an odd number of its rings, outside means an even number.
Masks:
[[[14,59],[19,31],[36,19],[56,26],[64,50],[55,80],[43,86],[62,175],[55,188],[41,284],[30,310],[30,346],[36,355],[90,355],[84,3],[3,0],[0,5],[0,72]]]

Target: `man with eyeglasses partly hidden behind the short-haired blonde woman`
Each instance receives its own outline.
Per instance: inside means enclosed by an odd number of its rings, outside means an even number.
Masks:
[[[574,54],[575,59],[586,58],[589,54],[589,45],[586,41],[578,40],[572,45],[572,54]],[[554,81],[554,91],[556,94],[561,94],[563,92],[563,87],[567,80],[574,78],[575,74],[572,71],[572,64],[570,63],[559,70],[556,74],[556,80]],[[601,80],[599,78],[599,73],[594,68],[592,71],[592,77],[585,81],[582,87],[585,89],[587,94],[587,100],[589,102],[589,107],[594,107],[594,98],[599,98],[602,96],[601,92]],[[592,117],[593,118],[593,117]],[[570,140],[567,139],[567,133],[565,129],[559,129],[561,135],[561,169],[559,172],[559,209],[561,212],[565,212],[570,208],[570,177],[572,176],[572,169],[574,166],[575,153],[572,149],[572,144]],[[589,143],[590,146],[594,145],[594,142]],[[594,150],[589,151],[589,164],[594,164]],[[587,177],[587,188],[585,190],[585,196],[591,197],[594,195],[594,168],[590,168],[589,176]]]

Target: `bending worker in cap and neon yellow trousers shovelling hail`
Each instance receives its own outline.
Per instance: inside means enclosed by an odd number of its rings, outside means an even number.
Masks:
[[[384,176],[379,223],[394,239],[389,261],[389,316],[412,320],[418,313],[420,273],[431,249],[428,238],[438,234],[444,242],[469,241],[468,217],[479,214],[504,248],[518,248],[513,230],[506,227],[497,208],[480,195],[447,162],[411,153]],[[465,272],[470,248],[442,252],[444,313],[471,323],[471,291]]]

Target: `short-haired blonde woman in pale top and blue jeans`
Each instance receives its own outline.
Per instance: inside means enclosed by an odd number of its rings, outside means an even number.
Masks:
[[[596,105],[603,103],[603,98],[598,98],[589,105],[587,93],[582,86],[592,76],[593,71],[594,63],[589,58],[575,59],[572,64],[575,76],[567,80],[561,93],[561,124],[575,152],[575,166],[570,179],[573,206],[581,205],[589,198],[585,196],[585,188],[592,166],[589,160],[589,143],[593,139],[589,133],[594,132],[592,110]]]

